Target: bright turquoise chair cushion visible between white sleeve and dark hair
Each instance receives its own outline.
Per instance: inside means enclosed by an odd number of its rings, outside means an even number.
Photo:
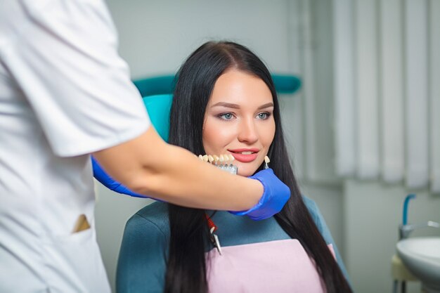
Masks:
[[[150,116],[151,123],[164,141],[168,141],[169,112],[171,110],[172,95],[155,95],[143,98],[143,104]]]

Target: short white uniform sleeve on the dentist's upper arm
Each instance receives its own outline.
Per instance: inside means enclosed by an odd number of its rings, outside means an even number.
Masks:
[[[56,155],[84,155],[150,125],[103,1],[20,0],[1,59]]]

